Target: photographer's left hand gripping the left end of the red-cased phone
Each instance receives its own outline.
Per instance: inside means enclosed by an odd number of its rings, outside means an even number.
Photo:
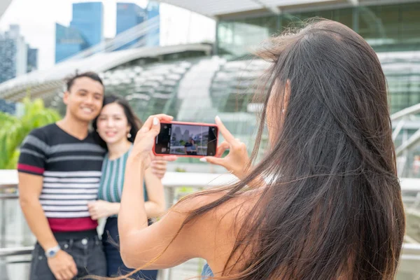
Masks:
[[[172,121],[172,116],[159,114],[148,117],[144,125],[137,132],[136,139],[129,160],[140,160],[143,168],[146,169],[153,159],[153,145],[155,144],[155,137],[160,132],[160,122]]]

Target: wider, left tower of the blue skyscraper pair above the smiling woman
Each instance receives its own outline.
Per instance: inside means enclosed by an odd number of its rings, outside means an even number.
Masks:
[[[146,10],[140,8],[135,3],[117,3],[117,35],[127,29],[135,27],[144,22],[146,18]],[[124,50],[136,45],[141,40],[138,38],[130,43],[123,45],[117,50]]]

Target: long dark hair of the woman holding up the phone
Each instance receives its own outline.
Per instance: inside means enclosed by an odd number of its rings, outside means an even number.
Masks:
[[[349,27],[316,20],[258,55],[272,64],[253,159],[267,113],[272,145],[244,180],[181,200],[226,192],[182,227],[264,177],[216,279],[394,279],[405,214],[374,50]]]

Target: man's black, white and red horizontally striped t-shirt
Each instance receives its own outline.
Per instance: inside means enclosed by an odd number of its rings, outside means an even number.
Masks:
[[[23,141],[18,172],[43,176],[39,201],[53,232],[97,227],[87,202],[97,199],[104,153],[92,134],[79,140],[55,124],[33,130]]]

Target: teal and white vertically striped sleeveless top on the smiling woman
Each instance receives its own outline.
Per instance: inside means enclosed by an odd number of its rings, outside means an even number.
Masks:
[[[102,178],[99,184],[98,200],[105,200],[107,202],[121,202],[121,194],[123,193],[124,174],[127,158],[132,151],[132,146],[120,158],[115,160],[109,159],[109,154],[106,153],[104,162],[102,164]],[[147,201],[146,186],[144,187],[144,200]]]

